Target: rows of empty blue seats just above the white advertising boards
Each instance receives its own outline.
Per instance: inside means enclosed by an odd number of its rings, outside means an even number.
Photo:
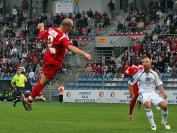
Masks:
[[[177,87],[177,80],[171,79],[170,74],[163,74],[162,81],[164,82],[165,89],[175,89]],[[173,81],[173,82],[172,82]],[[122,88],[128,89],[128,78],[87,78],[78,77],[76,81],[66,84],[66,88]]]

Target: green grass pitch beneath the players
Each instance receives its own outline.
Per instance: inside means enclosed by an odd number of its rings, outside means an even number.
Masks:
[[[128,104],[36,102],[25,111],[21,103],[0,102],[0,133],[151,133],[144,109],[128,120]],[[171,130],[160,125],[161,115],[153,109],[156,133],[177,133],[177,106],[169,105]]]

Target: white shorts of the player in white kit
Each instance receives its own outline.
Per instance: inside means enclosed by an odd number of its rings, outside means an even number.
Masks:
[[[151,101],[154,106],[157,106],[160,102],[165,101],[157,93],[142,93],[139,95],[140,101],[144,104],[147,101]]]

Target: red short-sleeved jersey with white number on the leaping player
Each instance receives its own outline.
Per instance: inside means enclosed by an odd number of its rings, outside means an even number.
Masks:
[[[44,39],[48,45],[49,49],[46,51],[45,56],[50,56],[60,62],[63,61],[66,48],[71,44],[69,37],[65,33],[57,28],[49,28],[48,30],[40,32],[38,38]]]

